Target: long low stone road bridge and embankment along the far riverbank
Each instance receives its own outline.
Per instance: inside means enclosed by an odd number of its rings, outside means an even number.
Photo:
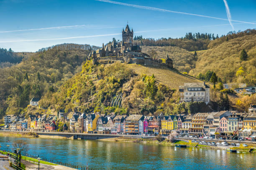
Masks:
[[[7,131],[0,130],[3,133],[29,133],[32,131]],[[68,139],[84,139],[84,140],[97,140],[97,139],[107,139],[107,138],[155,138],[155,136],[142,136],[142,135],[113,135],[113,134],[92,134],[92,133],[70,133],[70,132],[34,132],[41,137],[63,137]]]

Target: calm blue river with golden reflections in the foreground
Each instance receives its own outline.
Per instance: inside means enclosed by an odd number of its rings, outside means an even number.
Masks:
[[[256,153],[156,144],[0,137],[1,150],[18,139],[28,143],[27,154],[94,170],[256,170]]]

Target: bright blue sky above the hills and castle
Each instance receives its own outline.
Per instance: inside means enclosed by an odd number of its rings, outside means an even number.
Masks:
[[[121,40],[127,21],[134,36],[153,38],[256,28],[256,0],[226,0],[233,28],[224,0],[103,1],[108,0],[0,0],[0,47],[34,52],[61,43],[101,46],[113,37]]]

